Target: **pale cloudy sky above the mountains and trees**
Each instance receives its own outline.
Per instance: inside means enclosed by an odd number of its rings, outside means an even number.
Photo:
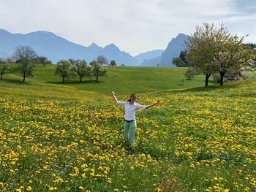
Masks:
[[[222,22],[256,43],[256,0],[0,0],[1,29],[50,31],[86,47],[114,43],[133,56],[165,50],[195,26]]]

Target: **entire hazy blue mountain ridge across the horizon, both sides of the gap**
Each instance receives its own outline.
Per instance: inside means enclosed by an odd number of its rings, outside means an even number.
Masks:
[[[185,49],[184,41],[187,37],[185,34],[178,34],[177,37],[171,39],[165,50],[151,50],[132,57],[129,53],[121,51],[113,43],[100,47],[93,42],[89,47],[85,47],[69,42],[67,39],[48,31],[12,34],[0,29],[0,58],[11,57],[18,46],[29,46],[38,55],[47,57],[53,63],[69,58],[84,58],[87,62],[90,62],[97,56],[104,55],[109,62],[115,60],[118,65],[157,66],[157,64],[160,64],[160,66],[173,66],[172,59],[177,57],[181,50]]]

